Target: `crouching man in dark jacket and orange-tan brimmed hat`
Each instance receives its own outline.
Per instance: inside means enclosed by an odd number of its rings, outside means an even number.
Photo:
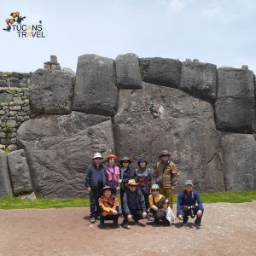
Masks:
[[[128,182],[128,189],[124,194],[123,205],[124,221],[122,226],[124,228],[131,228],[128,221],[132,219],[136,224],[140,224],[139,219],[147,217],[143,193],[141,190],[137,189],[137,183],[134,179],[130,179]]]

